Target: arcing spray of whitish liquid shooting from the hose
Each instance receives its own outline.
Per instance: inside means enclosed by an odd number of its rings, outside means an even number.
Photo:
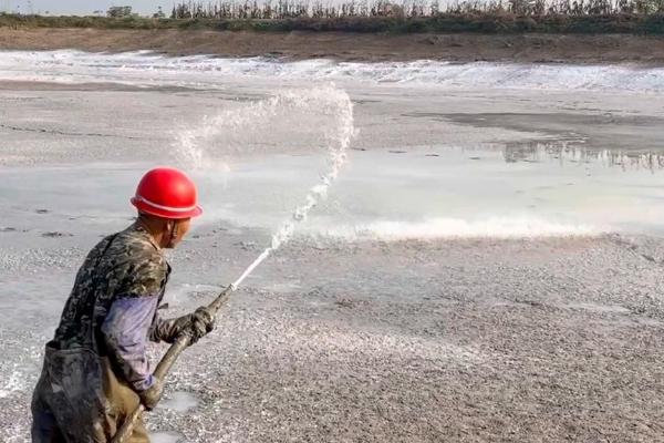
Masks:
[[[207,119],[203,127],[180,131],[177,134],[178,152],[181,159],[196,167],[203,167],[208,159],[203,142],[209,141],[224,132],[246,126],[248,121],[261,122],[283,115],[289,111],[317,113],[323,115],[323,142],[328,151],[328,173],[313,185],[302,205],[298,206],[291,217],[272,235],[271,244],[258,258],[249,265],[242,275],[231,284],[236,289],[266,259],[288,241],[295,227],[304,222],[313,207],[328,195],[328,189],[336,179],[346,161],[346,152],[355,134],[353,125],[353,104],[345,91],[328,85],[315,90],[298,90],[281,92],[270,99],[262,100],[238,111],[227,111],[212,119]]]

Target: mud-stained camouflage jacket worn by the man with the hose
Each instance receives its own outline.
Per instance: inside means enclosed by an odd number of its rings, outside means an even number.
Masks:
[[[157,307],[170,266],[137,224],[104,238],[87,255],[64,306],[53,343],[108,357],[134,390],[153,384],[147,340],[158,328]]]

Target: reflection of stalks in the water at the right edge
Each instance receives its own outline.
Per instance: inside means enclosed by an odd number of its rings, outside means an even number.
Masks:
[[[578,141],[551,141],[510,143],[502,147],[507,163],[543,163],[558,161],[564,164],[592,164],[627,169],[664,168],[662,151],[643,150],[594,150],[580,146]]]

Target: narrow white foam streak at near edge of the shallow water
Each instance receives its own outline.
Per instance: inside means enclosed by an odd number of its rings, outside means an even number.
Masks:
[[[435,239],[435,238],[538,238],[596,236],[604,230],[591,225],[548,222],[535,217],[490,217],[481,220],[432,218],[423,222],[375,222],[319,233],[344,239]]]

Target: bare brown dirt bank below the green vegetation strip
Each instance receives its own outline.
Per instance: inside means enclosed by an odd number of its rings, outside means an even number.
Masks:
[[[173,55],[273,55],[345,61],[418,59],[574,63],[664,63],[664,38],[635,35],[354,34],[179,30],[0,28],[2,50],[154,50]]]

